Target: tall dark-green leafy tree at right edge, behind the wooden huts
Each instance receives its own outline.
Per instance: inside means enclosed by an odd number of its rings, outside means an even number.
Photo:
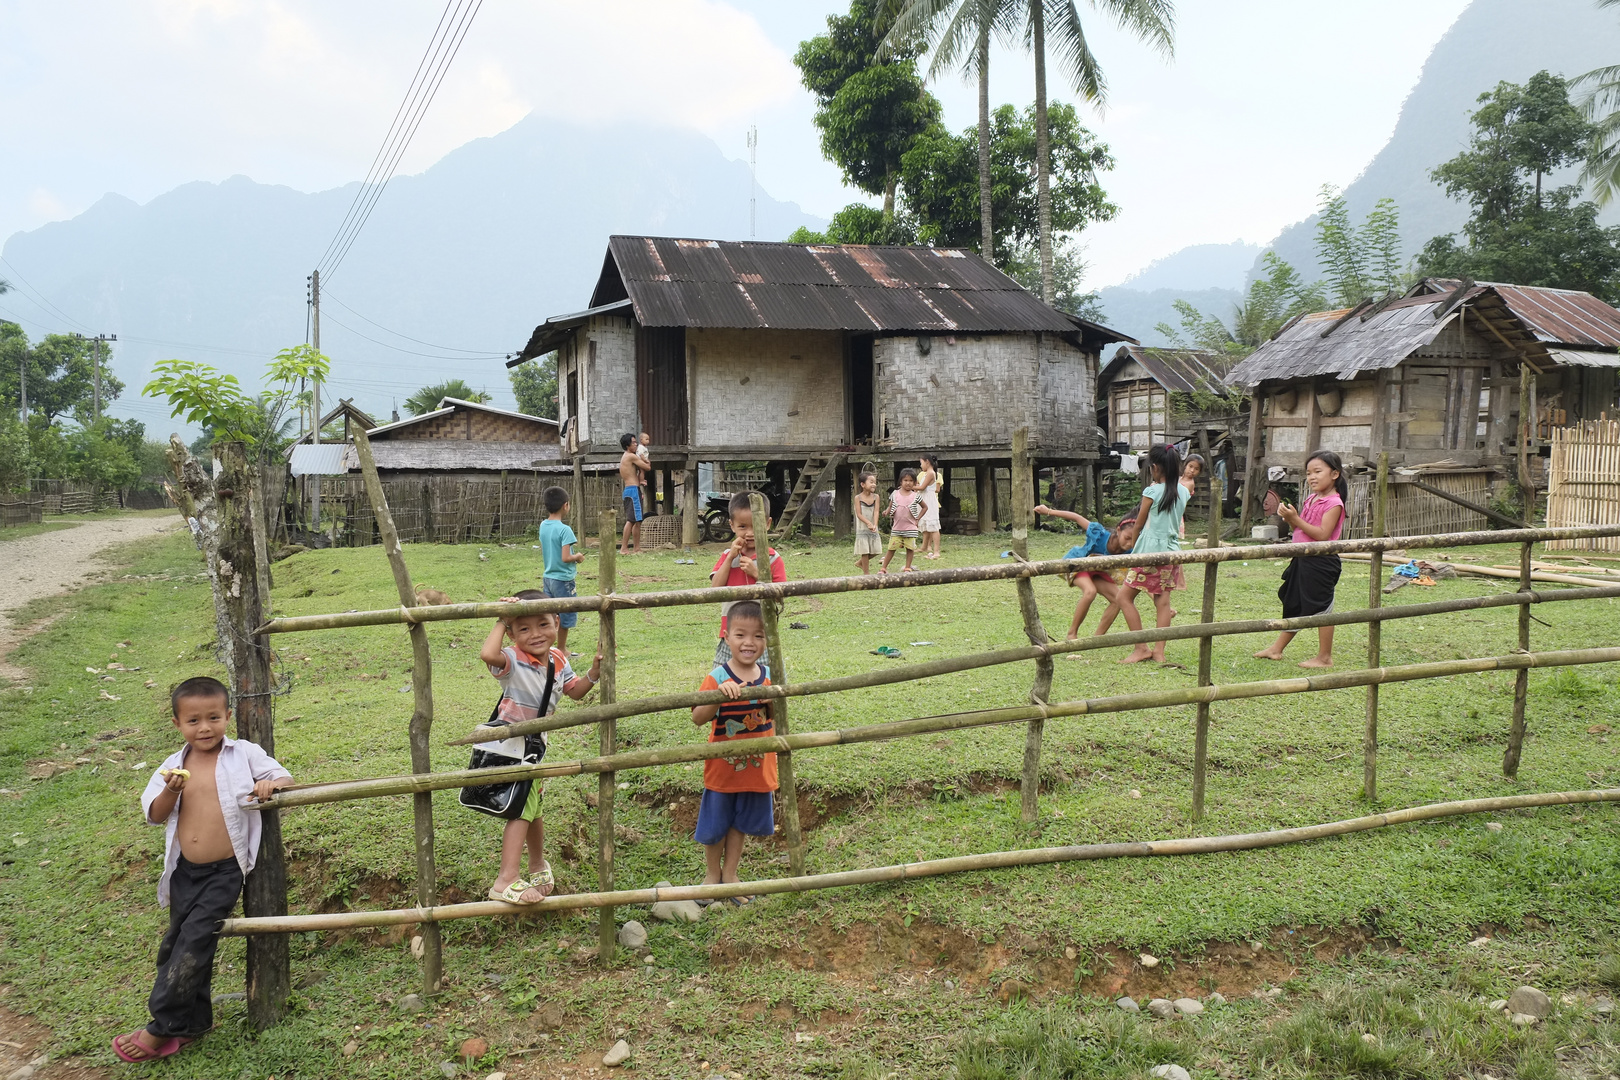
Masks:
[[[1430,176],[1473,214],[1456,235],[1435,236],[1422,274],[1578,288],[1620,300],[1620,228],[1597,223],[1597,204],[1568,185],[1545,191],[1545,173],[1586,159],[1592,126],[1570,105],[1568,84],[1541,71],[1498,83],[1479,97],[1469,149]]]

